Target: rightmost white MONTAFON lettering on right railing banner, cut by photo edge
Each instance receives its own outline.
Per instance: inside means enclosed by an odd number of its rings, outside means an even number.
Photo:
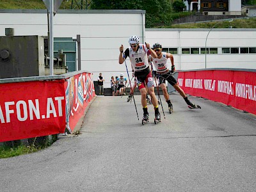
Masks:
[[[256,100],[256,86],[252,84],[236,83],[236,97]]]

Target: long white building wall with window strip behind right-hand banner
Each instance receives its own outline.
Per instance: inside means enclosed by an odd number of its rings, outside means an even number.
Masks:
[[[146,41],[151,45],[158,42],[163,47],[178,48],[178,54],[173,54],[176,69],[198,69],[205,68],[205,54],[180,54],[181,48],[204,48],[208,33],[209,29],[146,29]],[[220,52],[207,54],[207,68],[256,69],[256,54],[221,53],[222,47],[256,47],[256,29],[212,29],[207,47],[217,47]]]

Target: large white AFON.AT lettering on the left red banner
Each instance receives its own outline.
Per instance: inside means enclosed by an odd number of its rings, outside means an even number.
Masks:
[[[47,106],[46,106],[46,118],[51,118],[51,114],[56,117],[56,108],[58,108],[58,116],[63,116],[62,113],[62,105],[61,100],[64,100],[64,97],[54,97],[54,100],[58,102],[58,106],[54,106],[53,98],[47,98]],[[3,113],[5,109],[5,114]],[[14,110],[15,109],[15,110]],[[11,122],[11,114],[15,114],[17,116],[17,120],[20,122],[24,122],[28,120],[34,120],[34,115],[36,119],[44,119],[45,115],[40,116],[40,108],[39,108],[39,100],[35,99],[28,100],[19,100],[16,103],[14,101],[4,102],[4,108],[0,105],[0,121],[1,124],[10,123]],[[13,115],[12,115],[13,117]]]

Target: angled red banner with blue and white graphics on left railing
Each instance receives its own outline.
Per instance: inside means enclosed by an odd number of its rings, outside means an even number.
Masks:
[[[92,74],[83,73],[67,79],[66,88],[66,121],[67,129],[72,132],[84,114],[88,102],[95,96]]]

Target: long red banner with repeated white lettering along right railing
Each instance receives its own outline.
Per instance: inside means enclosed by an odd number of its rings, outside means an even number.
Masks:
[[[185,93],[222,102],[256,115],[256,72],[179,72],[178,83]]]

